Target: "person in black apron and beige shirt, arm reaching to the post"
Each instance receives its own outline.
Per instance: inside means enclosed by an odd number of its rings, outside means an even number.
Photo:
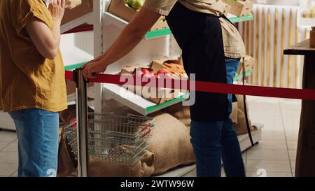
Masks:
[[[83,66],[85,78],[95,78],[94,73],[105,71],[106,66],[127,55],[160,15],[167,16],[183,50],[188,74],[195,73],[200,81],[233,83],[245,48],[237,29],[223,18],[221,0],[146,0],[111,48]],[[237,134],[229,117],[232,95],[196,92],[195,99],[190,106],[190,136],[197,176],[221,176],[221,159],[227,176],[245,176]]]

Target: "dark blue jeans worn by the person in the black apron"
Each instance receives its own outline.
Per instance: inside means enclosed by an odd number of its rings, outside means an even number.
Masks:
[[[239,59],[226,61],[227,82],[232,84],[239,66]],[[228,109],[232,112],[232,94],[228,94]],[[244,177],[244,162],[232,120],[196,122],[190,125],[197,176],[221,177],[221,160],[228,177]]]

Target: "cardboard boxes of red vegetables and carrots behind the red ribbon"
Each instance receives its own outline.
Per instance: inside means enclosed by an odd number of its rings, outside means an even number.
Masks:
[[[143,81],[148,81],[148,79],[158,80],[161,78],[188,78],[179,60],[165,58],[153,60],[151,66],[148,66],[146,64],[136,64],[134,66],[127,66],[120,71],[120,75],[124,75],[126,73],[132,74],[134,78],[139,78]],[[134,85],[125,85],[125,87],[135,94],[138,94],[155,104],[163,104],[166,101],[176,99],[177,97],[179,97],[179,93],[181,92],[181,90],[172,90],[170,88],[161,87],[135,87]]]

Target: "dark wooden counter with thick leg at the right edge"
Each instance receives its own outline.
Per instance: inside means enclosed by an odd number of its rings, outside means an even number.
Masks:
[[[285,55],[304,55],[303,89],[315,89],[315,48],[309,40],[286,48]],[[315,176],[315,101],[302,100],[295,176]]]

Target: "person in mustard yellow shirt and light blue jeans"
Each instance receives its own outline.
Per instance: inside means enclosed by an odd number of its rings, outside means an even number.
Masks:
[[[67,108],[64,7],[64,0],[0,1],[0,107],[15,122],[18,176],[57,174],[58,112]]]

